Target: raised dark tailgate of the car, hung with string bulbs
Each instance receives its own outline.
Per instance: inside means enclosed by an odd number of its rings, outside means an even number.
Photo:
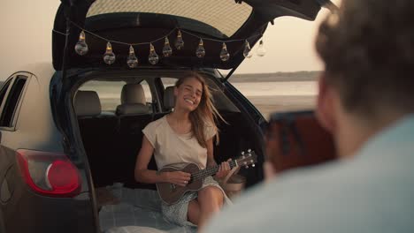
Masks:
[[[329,0],[62,0],[52,36],[53,66],[57,71],[64,63],[65,69],[128,69],[126,60],[133,44],[138,68],[234,69],[244,59],[245,41],[253,47],[269,21],[280,16],[313,20],[321,6],[329,4]],[[74,50],[81,29],[88,44],[83,56]],[[182,49],[174,46],[179,29]],[[173,49],[168,57],[162,51],[165,37]],[[201,38],[203,58],[196,56]],[[116,56],[111,65],[103,62],[108,41]],[[157,52],[156,65],[149,64],[149,42]],[[223,42],[230,57],[225,62],[220,59]]]

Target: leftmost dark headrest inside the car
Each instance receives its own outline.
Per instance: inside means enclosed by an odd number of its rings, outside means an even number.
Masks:
[[[78,91],[74,99],[76,116],[98,116],[101,114],[101,101],[94,91]]]

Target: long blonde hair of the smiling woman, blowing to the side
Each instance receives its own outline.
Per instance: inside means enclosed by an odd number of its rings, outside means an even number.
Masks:
[[[219,144],[219,128],[217,127],[217,120],[220,118],[226,123],[222,116],[220,116],[219,111],[214,107],[213,101],[211,100],[211,92],[209,86],[206,84],[203,76],[198,74],[195,71],[186,73],[183,78],[180,78],[175,83],[175,86],[178,88],[183,84],[187,79],[197,79],[203,86],[203,93],[200,99],[200,103],[197,108],[189,113],[189,118],[191,122],[191,131],[193,136],[196,137],[198,143],[202,147],[207,147],[207,139],[205,139],[205,129],[206,127],[213,127],[217,132],[216,142]]]

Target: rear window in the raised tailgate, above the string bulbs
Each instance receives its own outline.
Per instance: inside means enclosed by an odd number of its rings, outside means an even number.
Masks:
[[[139,25],[141,21],[147,19],[145,16],[140,16],[141,14],[153,13],[157,15],[157,19],[163,15],[170,16],[170,18],[171,16],[177,17],[176,23],[181,28],[205,34],[208,31],[205,30],[205,26],[200,25],[202,22],[230,37],[249,19],[252,11],[253,8],[249,4],[242,2],[234,4],[234,0],[99,0],[90,6],[87,18],[99,18],[103,14],[136,13],[134,19]],[[192,19],[192,21],[188,21],[188,19]]]

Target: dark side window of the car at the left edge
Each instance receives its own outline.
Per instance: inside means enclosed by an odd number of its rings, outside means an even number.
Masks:
[[[20,97],[23,93],[23,89],[25,87],[27,81],[26,76],[19,75],[10,89],[10,93],[7,95],[7,99],[4,102],[4,107],[2,111],[2,116],[0,117],[0,126],[1,127],[12,127],[12,120],[13,116],[15,116],[16,109],[18,107],[18,103]],[[2,90],[3,91],[3,90]],[[4,98],[4,96],[3,96]]]

